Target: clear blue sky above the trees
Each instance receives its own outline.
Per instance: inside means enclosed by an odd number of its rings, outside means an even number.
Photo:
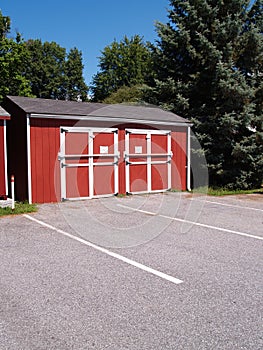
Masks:
[[[12,34],[25,40],[55,41],[67,50],[82,51],[84,77],[89,84],[97,72],[97,57],[105,46],[124,35],[157,39],[154,22],[167,22],[168,0],[1,0],[11,17]]]

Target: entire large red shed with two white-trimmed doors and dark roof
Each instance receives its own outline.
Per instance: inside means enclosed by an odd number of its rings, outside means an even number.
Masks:
[[[8,96],[16,198],[47,203],[190,189],[190,123],[160,108]]]

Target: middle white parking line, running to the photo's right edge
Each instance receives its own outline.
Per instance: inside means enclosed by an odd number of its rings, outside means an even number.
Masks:
[[[126,206],[126,205],[122,205],[122,204],[117,204],[117,205],[119,207],[130,209],[130,210],[137,211],[137,212],[140,212],[140,213],[143,213],[143,214],[147,214],[147,215],[159,216],[161,218],[165,218],[165,219],[169,219],[169,220],[173,220],[173,221],[184,222],[184,223],[187,223],[187,224],[196,225],[196,226],[205,227],[205,228],[210,228],[210,229],[221,231],[221,232],[227,232],[227,233],[232,233],[232,234],[239,235],[239,236],[244,236],[244,237],[249,237],[249,238],[263,240],[263,237],[251,235],[251,234],[245,233],[245,232],[228,230],[228,229],[222,228],[222,227],[201,224],[200,222],[194,222],[194,221],[189,221],[189,220],[184,220],[184,219],[179,219],[179,218],[173,218],[172,216],[167,216],[167,215],[163,215],[163,214],[153,213],[153,212],[150,212],[150,211],[136,209],[136,208],[132,208],[132,207],[129,207],[129,206]]]

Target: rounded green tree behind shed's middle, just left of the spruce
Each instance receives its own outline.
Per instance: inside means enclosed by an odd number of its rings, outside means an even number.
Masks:
[[[91,87],[94,101],[103,101],[119,88],[143,84],[152,74],[149,44],[139,35],[115,40],[102,51],[99,68]]]

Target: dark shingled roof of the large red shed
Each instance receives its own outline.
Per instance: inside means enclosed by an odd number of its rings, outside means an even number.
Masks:
[[[56,116],[79,116],[80,119],[89,117],[116,118],[126,120],[145,120],[162,123],[189,123],[178,115],[153,106],[135,106],[125,104],[102,104],[89,102],[61,101],[21,96],[7,96],[7,99],[19,106],[28,114],[43,114]],[[83,118],[84,117],[84,118]],[[85,118],[86,117],[86,118]]]

